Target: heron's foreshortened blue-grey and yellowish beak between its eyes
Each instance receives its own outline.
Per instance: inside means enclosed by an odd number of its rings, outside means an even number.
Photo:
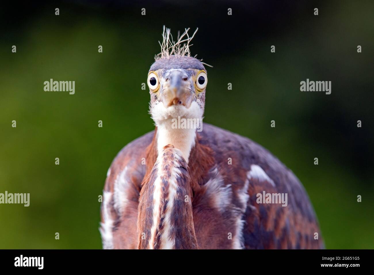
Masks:
[[[162,103],[165,107],[185,106],[189,108],[193,100],[191,83],[182,71],[172,71],[161,91]]]

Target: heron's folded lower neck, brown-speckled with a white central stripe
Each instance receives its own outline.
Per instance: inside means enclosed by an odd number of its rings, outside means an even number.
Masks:
[[[181,150],[172,145],[159,150],[139,200],[139,249],[197,248],[191,178]]]

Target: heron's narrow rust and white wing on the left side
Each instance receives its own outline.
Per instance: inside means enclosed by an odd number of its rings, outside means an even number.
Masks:
[[[101,204],[104,249],[137,248],[138,199],[146,169],[145,149],[152,138],[153,131],[126,145],[108,170]]]

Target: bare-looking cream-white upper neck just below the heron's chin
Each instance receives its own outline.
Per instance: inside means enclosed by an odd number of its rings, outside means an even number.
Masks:
[[[157,123],[157,152],[160,153],[168,144],[181,150],[188,164],[191,149],[195,146],[196,129],[178,128],[171,119]]]

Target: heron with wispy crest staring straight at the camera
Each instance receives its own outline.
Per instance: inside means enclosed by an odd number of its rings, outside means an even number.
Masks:
[[[163,27],[147,76],[155,129],[108,169],[103,248],[324,248],[306,190],[268,150],[207,123],[201,131],[174,123],[204,114],[208,64],[191,56],[197,30],[188,30],[174,41]]]

